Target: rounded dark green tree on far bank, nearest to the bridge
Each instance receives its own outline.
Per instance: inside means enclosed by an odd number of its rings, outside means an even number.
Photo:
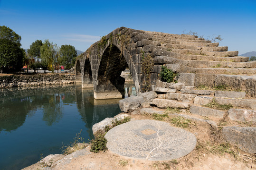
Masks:
[[[61,45],[60,47],[61,65],[70,69],[76,62],[76,49],[72,45]]]

